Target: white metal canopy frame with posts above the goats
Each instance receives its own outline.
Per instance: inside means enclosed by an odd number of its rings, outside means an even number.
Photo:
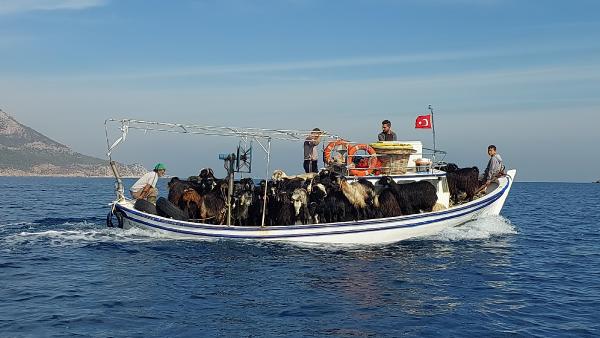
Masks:
[[[109,124],[119,124],[121,136],[111,143],[108,129]],[[169,123],[169,122],[156,122],[156,121],[143,121],[135,119],[106,119],[104,120],[104,131],[106,133],[106,145],[108,147],[107,156],[117,180],[116,182],[116,193],[118,200],[125,198],[124,187],[121,181],[121,177],[116,169],[115,162],[112,160],[113,151],[127,138],[129,130],[142,130],[144,132],[156,131],[165,133],[177,133],[177,134],[194,134],[194,135],[207,135],[207,136],[224,136],[224,137],[237,137],[244,142],[249,140],[256,141],[260,147],[264,150],[267,155],[267,168],[265,171],[265,181],[269,182],[269,171],[271,163],[271,141],[304,141],[311,133],[312,130],[293,130],[293,129],[264,129],[264,128],[239,128],[239,127],[218,127],[218,126],[203,126],[197,124],[181,124],[181,123]],[[340,140],[340,136],[331,134],[327,131],[321,130],[319,132],[321,137],[328,139]],[[266,142],[266,144],[265,144]],[[264,203],[266,204],[267,198],[267,186],[265,186],[265,198]],[[263,205],[262,215],[262,226],[265,223],[265,211],[266,205]]]

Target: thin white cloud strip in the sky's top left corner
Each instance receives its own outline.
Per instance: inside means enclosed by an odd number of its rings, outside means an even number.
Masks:
[[[81,10],[104,6],[108,0],[0,0],[0,14],[29,11]]]

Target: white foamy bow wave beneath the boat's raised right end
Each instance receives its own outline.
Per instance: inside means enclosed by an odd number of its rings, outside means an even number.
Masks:
[[[502,216],[489,216],[464,223],[457,227],[444,229],[435,235],[424,237],[423,239],[454,242],[488,239],[516,233],[516,227],[508,219]]]

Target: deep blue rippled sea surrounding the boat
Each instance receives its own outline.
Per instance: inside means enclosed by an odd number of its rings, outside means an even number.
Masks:
[[[600,184],[516,182],[501,217],[370,247],[107,228],[111,179],[0,192],[0,337],[600,336]]]

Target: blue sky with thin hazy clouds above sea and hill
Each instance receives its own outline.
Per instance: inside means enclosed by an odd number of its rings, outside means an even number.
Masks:
[[[104,121],[303,129],[432,147],[495,144],[517,181],[600,179],[600,1],[0,0],[0,109],[106,158]],[[114,140],[116,134],[111,135]],[[131,132],[113,157],[187,177],[232,138]],[[271,169],[302,171],[273,142]],[[253,176],[265,155],[254,146]],[[254,175],[255,173],[255,175]]]

